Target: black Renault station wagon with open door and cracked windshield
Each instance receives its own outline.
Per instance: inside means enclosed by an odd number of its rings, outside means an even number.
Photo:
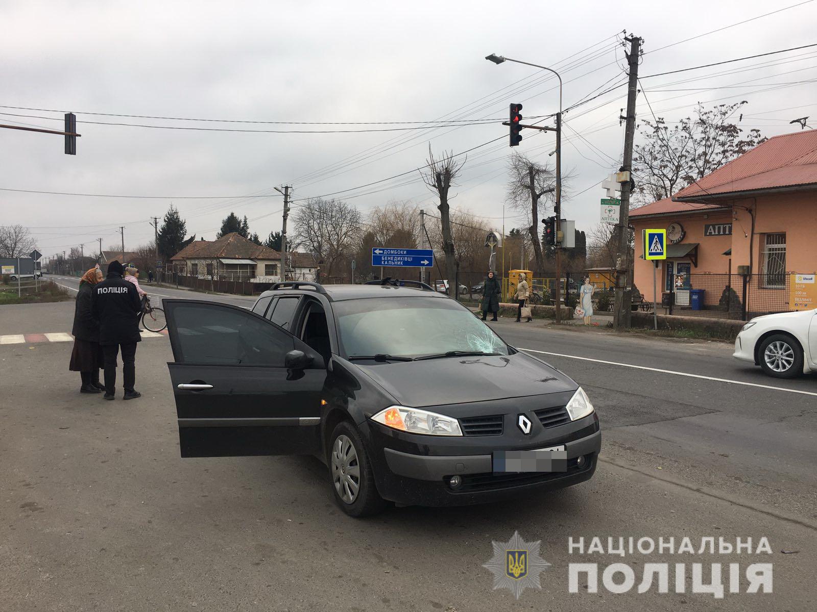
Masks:
[[[587,394],[420,282],[165,299],[182,457],[317,455],[354,517],[586,481]]]

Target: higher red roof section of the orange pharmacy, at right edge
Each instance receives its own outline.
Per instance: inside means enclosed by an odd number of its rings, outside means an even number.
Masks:
[[[817,130],[774,136],[681,189],[673,199],[808,184],[817,185]]]

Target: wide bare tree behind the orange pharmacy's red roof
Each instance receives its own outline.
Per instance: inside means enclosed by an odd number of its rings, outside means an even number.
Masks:
[[[649,204],[700,180],[726,162],[766,140],[757,129],[743,135],[730,119],[747,104],[718,104],[704,109],[699,104],[694,118],[683,118],[670,129],[663,117],[642,120],[643,142],[636,144],[633,174],[640,204]],[[739,120],[743,115],[739,115]]]

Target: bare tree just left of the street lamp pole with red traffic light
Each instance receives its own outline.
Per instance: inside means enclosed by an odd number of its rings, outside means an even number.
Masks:
[[[547,205],[553,203],[553,198],[549,194],[556,191],[556,174],[547,164],[543,166],[533,162],[518,152],[511,156],[508,171],[510,179],[507,186],[507,201],[530,223],[528,233],[530,244],[534,247],[536,272],[542,273],[545,258],[542,254],[542,242],[539,240],[541,231],[539,218],[547,210]],[[562,199],[565,199],[564,188]]]

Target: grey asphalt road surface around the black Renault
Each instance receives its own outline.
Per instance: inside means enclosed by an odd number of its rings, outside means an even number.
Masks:
[[[0,335],[70,330],[72,315],[70,302],[6,306]],[[164,336],[140,344],[136,388],[144,397],[129,402],[81,396],[78,376],[67,371],[68,342],[0,345],[0,608],[817,607],[817,379],[766,378],[733,362],[721,343],[493,325],[587,389],[604,436],[596,476],[551,494],[471,508],[393,508],[364,521],[335,507],[317,459],[180,459]],[[493,591],[482,567],[491,541],[515,530],[541,540],[551,564],[542,590],[518,601]],[[570,537],[595,535],[690,537],[696,551],[703,537],[757,543],[766,536],[773,553],[569,553]],[[723,599],[692,593],[690,570],[684,593],[675,592],[672,573],[668,593],[653,585],[615,595],[601,579],[597,593],[584,580],[578,593],[568,592],[571,562],[599,562],[600,570],[628,563],[637,587],[647,562],[708,568],[711,561],[772,562],[774,592],[748,594],[744,581]]]

